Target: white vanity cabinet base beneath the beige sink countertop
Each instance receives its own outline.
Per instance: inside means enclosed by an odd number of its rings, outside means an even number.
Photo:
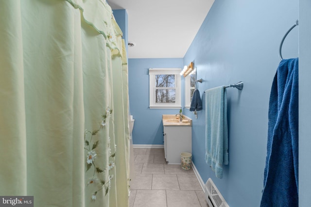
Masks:
[[[168,164],[180,164],[180,153],[191,153],[191,126],[164,126],[164,155]]]

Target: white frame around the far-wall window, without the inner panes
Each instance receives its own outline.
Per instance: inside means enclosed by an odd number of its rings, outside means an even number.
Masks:
[[[181,68],[149,68],[149,108],[181,108]],[[175,75],[175,103],[155,103],[155,75]]]

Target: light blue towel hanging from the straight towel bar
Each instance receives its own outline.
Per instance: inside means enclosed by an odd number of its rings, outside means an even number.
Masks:
[[[223,164],[228,164],[228,123],[227,97],[225,86],[205,92],[206,128],[205,161],[215,171],[218,178],[223,177]]]

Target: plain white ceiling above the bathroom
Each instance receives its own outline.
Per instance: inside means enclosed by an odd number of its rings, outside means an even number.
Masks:
[[[128,14],[128,58],[183,58],[214,0],[107,0]]]

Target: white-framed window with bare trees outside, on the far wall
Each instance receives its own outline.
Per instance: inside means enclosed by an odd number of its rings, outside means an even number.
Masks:
[[[180,68],[150,68],[150,109],[181,108]]]

